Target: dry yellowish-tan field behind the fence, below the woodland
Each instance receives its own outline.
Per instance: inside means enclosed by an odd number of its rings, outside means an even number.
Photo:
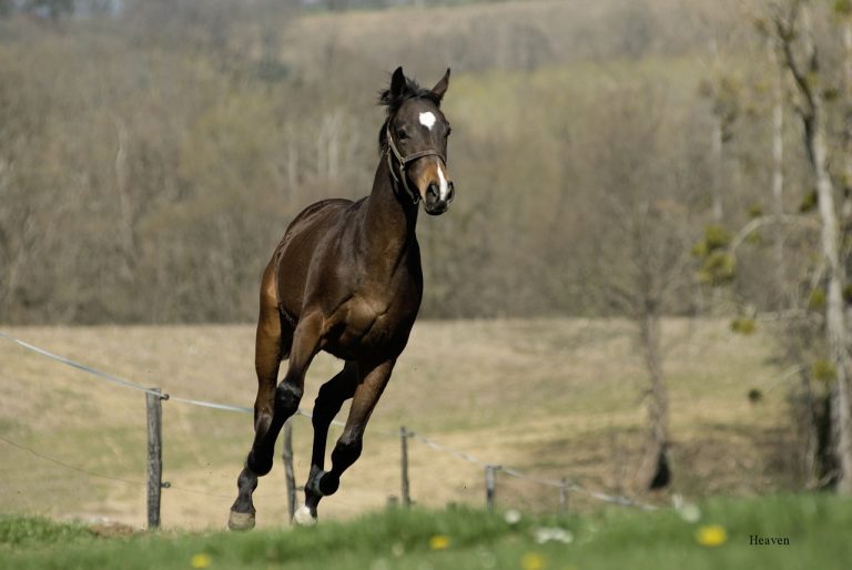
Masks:
[[[20,327],[19,338],[183,397],[251,406],[253,327]],[[671,319],[674,490],[749,496],[791,488],[785,404],[770,337],[724,320]],[[645,436],[646,376],[625,320],[424,322],[415,326],[367,429],[362,459],[321,517],[351,518],[399,493],[400,425],[479,459],[596,490],[629,490]],[[320,357],[303,408],[339,368]],[[0,441],[0,509],[53,518],[144,522],[145,406],[140,393],[98,380],[0,339],[0,436],[97,478]],[[750,388],[764,394],[752,405]],[[345,409],[344,409],[345,414]],[[164,404],[165,527],[221,528],[252,426],[244,414]],[[338,430],[333,430],[336,438]],[[310,423],[295,420],[296,475],[307,472]],[[419,505],[481,506],[481,467],[413,441]],[[121,479],[121,480],[113,480]],[[498,503],[555,511],[554,489],[498,476]],[[258,525],[285,521],[283,469],[261,480]],[[659,500],[650,497],[648,500]],[[571,497],[571,506],[589,510]]]

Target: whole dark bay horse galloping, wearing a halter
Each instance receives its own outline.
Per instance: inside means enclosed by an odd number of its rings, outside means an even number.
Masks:
[[[261,283],[254,365],[254,444],[237,479],[229,527],[254,527],[252,492],[270,472],[284,421],[302,399],[305,373],[320,350],[345,360],[314,404],[314,446],[305,505],[295,522],[316,520],[320,499],[339,486],[361,455],[364,429],[408,342],[423,297],[415,227],[419,203],[443,214],[453,201],[447,171],[449,124],[440,101],[449,70],[422,89],[398,68],[379,101],[387,119],[379,131],[381,159],[369,196],[324,200],[291,223]],[[277,384],[278,365],[290,358]],[[352,398],[346,427],[325,470],[328,425]]]

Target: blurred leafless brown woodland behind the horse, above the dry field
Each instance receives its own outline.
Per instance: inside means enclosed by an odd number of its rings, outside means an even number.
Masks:
[[[599,30],[575,40],[585,45],[578,55],[558,35],[576,11],[528,4],[538,6],[381,12],[374,29],[362,13],[305,17],[276,2],[225,0],[0,20],[0,320],[251,319],[257,276],[288,221],[313,201],[369,191],[375,93],[399,62],[424,81],[447,64],[458,78],[447,111],[464,190],[453,216],[420,223],[424,314],[619,311],[598,298],[586,262],[594,253],[582,251],[599,242],[598,199],[627,187],[587,167],[608,169],[598,150],[620,138],[616,124],[591,128],[610,122],[596,100],[627,105],[641,92],[653,105],[667,96],[657,81],[698,98],[690,80],[658,77],[683,40],[648,43],[665,26],[657,12],[636,18],[631,9],[623,18],[643,22],[623,22],[636,40],[613,43]],[[618,8],[597,16],[601,28],[618,21]],[[489,26],[462,33],[483,14]],[[403,22],[429,41],[412,45]],[[399,47],[385,53],[388,40]],[[616,64],[608,79],[585,63],[618,53],[647,60],[647,73]],[[698,174],[708,167],[702,128],[688,129],[696,135],[687,146],[658,131],[649,145],[668,146]]]

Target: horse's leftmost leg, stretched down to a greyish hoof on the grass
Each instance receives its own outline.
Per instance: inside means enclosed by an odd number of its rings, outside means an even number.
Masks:
[[[305,315],[293,332],[287,374],[275,388],[272,416],[261,415],[255,420],[255,437],[252,450],[237,478],[237,497],[231,507],[227,526],[232,530],[254,528],[254,505],[252,493],[257,488],[257,478],[272,469],[275,440],[284,421],[298,410],[305,386],[305,373],[316,356],[322,334],[323,317],[318,313]],[[260,399],[260,394],[258,394]],[[256,410],[255,410],[256,414]]]

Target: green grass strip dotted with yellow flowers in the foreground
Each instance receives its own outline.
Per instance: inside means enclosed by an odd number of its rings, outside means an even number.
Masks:
[[[515,523],[469,509],[388,509],[313,528],[118,538],[77,523],[7,517],[0,518],[0,568],[831,570],[852,559],[850,530],[852,500],[830,495],[713,500],[692,522],[674,509],[521,516]],[[789,544],[751,546],[752,535]]]

